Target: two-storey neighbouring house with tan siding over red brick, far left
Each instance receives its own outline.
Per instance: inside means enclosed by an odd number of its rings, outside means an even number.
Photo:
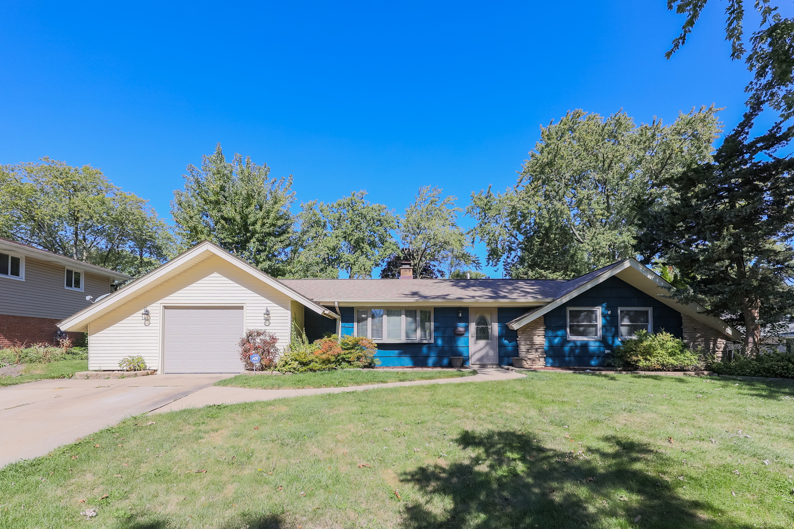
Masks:
[[[52,344],[57,323],[131,279],[0,237],[0,347]],[[72,336],[74,337],[74,336]]]

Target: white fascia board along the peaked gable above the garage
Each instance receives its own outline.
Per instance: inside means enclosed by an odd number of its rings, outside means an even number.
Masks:
[[[204,256],[203,259],[199,259],[204,253],[207,255]],[[152,270],[141,278],[138,278],[128,285],[123,286],[121,289],[118,289],[116,292],[110,294],[110,296],[102,298],[93,305],[89,305],[85,309],[76,312],[63,321],[60,321],[58,323],[58,328],[60,328],[62,331],[83,331],[87,323],[95,319],[94,316],[101,315],[104,312],[109,312],[115,308],[114,305],[120,305],[121,301],[123,301],[125,298],[133,296],[135,293],[146,289],[148,286],[152,286],[153,284],[156,285],[160,279],[164,278],[164,276],[168,276],[168,274],[170,274],[175,268],[186,265],[194,259],[197,259],[197,263],[195,264],[201,263],[205,259],[208,259],[210,255],[218,255],[218,257],[227,260],[229,263],[246,270],[249,272],[249,274],[260,278],[260,280],[264,281],[270,286],[273,286],[275,289],[279,290],[279,292],[287,295],[287,297],[291,297],[291,299],[294,299],[300,304],[309,307],[310,309],[314,310],[314,312],[317,312],[322,316],[332,319],[340,317],[325,307],[314,303],[314,301],[311,301],[310,299],[290,289],[283,283],[279,282],[278,279],[272,278],[270,275],[265,274],[263,271],[251,266],[249,263],[245,263],[245,261],[242,259],[230,255],[221,247],[218,247],[217,245],[208,241],[204,241],[203,243],[196,244],[190,250],[184,251],[182,254],[177,255],[174,259],[168,261],[168,263],[158,266],[155,270]]]

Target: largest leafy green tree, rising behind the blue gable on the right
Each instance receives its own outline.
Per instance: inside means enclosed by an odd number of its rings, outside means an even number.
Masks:
[[[541,127],[515,186],[472,193],[472,234],[488,263],[511,278],[567,279],[634,255],[642,211],[665,200],[655,182],[711,160],[715,112],[634,125],[623,112],[604,119],[577,109]]]

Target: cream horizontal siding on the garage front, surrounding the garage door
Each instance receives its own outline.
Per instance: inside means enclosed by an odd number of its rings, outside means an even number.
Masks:
[[[290,301],[240,267],[212,256],[91,321],[88,369],[118,369],[121,358],[141,355],[150,369],[159,370],[164,307],[242,305],[246,329],[267,329],[278,336],[279,347],[287,347]],[[141,317],[145,308],[150,312],[148,322]],[[270,311],[269,322],[264,318],[265,309]]]

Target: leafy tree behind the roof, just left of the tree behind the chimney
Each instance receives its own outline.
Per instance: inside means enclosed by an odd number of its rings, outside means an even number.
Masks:
[[[372,268],[381,266],[397,250],[391,236],[395,216],[382,204],[372,204],[364,190],[336,202],[312,201],[299,213],[303,250],[296,266],[308,262],[328,263],[350,278],[371,278]]]

